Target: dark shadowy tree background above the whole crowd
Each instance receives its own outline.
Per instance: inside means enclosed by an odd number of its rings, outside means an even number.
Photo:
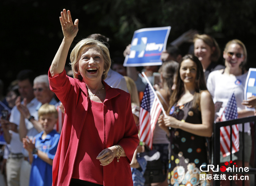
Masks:
[[[214,36],[221,49],[240,39],[255,67],[256,0],[1,0],[0,79],[7,80],[5,86],[22,69],[47,73],[63,38],[58,18],[63,8],[79,19],[76,41],[92,33],[106,35],[112,57],[122,55],[135,30],[171,26],[169,42],[189,29]]]

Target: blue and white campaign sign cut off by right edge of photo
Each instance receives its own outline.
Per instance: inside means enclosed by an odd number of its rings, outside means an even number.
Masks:
[[[246,78],[246,84],[244,88],[244,100],[252,96],[256,96],[256,69],[250,68]],[[248,108],[247,108],[248,109]],[[253,109],[254,110],[254,109]]]

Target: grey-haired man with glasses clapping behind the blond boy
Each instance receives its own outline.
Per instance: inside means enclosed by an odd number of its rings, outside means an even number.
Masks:
[[[26,80],[22,80],[23,78],[19,79],[19,87],[23,84],[26,84]],[[40,108],[40,106],[42,106],[42,104],[53,104],[56,105],[58,102],[53,98],[54,97],[54,93],[50,90],[50,86],[49,86],[49,81],[48,81],[48,76],[47,75],[40,75],[37,76],[34,79],[34,82],[32,84],[32,92],[33,95],[36,98],[33,98],[33,100],[31,100],[29,102],[28,98],[24,98],[23,103],[20,102],[20,98],[18,98],[16,100],[16,108],[18,108],[18,111],[20,112],[20,129],[19,129],[19,134],[20,134],[20,140],[22,141],[23,138],[25,138],[26,136],[28,136],[31,140],[34,138],[34,136],[36,134],[38,134],[39,132],[41,132],[42,129],[42,125],[38,122],[38,109]],[[27,84],[28,86],[28,84]],[[30,90],[31,91],[31,90]],[[20,94],[22,95],[22,93],[20,92]],[[31,103],[34,103],[34,100],[36,100],[36,104],[34,104],[31,107]],[[26,153],[25,153],[26,152]],[[28,159],[24,159],[22,165],[24,165],[24,169],[26,169],[25,174],[23,176],[20,177],[20,185],[21,186],[27,186],[29,184],[29,180],[30,180],[30,170],[31,170],[31,163],[32,163],[32,159],[33,157],[28,155],[27,151],[24,149],[24,155],[25,157],[29,157]],[[27,161],[29,160],[29,162]],[[22,169],[23,170],[23,169]],[[28,174],[29,172],[29,174]],[[21,172],[21,175],[23,174],[23,171]]]

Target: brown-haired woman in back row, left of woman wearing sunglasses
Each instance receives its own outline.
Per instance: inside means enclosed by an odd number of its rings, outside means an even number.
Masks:
[[[194,36],[194,54],[202,63],[206,81],[210,72],[224,69],[223,65],[217,63],[220,59],[219,45],[210,35],[196,34]]]

